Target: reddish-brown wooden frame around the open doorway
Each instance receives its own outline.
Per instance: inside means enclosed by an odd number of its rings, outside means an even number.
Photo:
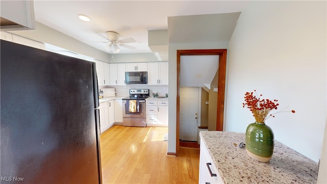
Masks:
[[[216,130],[218,131],[223,130],[227,49],[177,50],[176,156],[179,155],[180,56],[196,56],[196,55],[219,55]]]

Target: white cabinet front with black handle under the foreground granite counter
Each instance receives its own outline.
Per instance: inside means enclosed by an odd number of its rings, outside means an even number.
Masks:
[[[200,141],[199,183],[224,183],[203,141]]]

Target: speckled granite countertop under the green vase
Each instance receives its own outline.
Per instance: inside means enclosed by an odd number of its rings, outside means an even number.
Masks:
[[[245,133],[200,131],[200,137],[225,184],[317,183],[318,163],[276,140],[270,161],[261,163],[239,148]]]

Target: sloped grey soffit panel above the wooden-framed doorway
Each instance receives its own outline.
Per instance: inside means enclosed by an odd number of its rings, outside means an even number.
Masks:
[[[168,17],[169,43],[229,41],[241,12]]]

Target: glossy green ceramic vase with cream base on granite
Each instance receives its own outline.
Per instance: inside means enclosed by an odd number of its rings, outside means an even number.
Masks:
[[[274,134],[265,123],[251,123],[246,128],[245,147],[248,155],[260,162],[268,162],[274,151]]]

